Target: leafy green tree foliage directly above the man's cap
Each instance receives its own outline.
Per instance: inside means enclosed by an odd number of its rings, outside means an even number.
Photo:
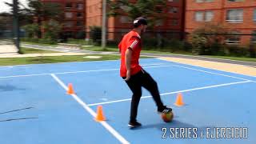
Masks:
[[[118,15],[127,14],[129,18],[146,17],[149,26],[166,18],[166,2],[167,0],[138,0],[130,2],[130,0],[108,1],[108,16],[116,17]]]

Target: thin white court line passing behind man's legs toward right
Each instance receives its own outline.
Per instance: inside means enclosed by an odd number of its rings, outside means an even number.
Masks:
[[[162,93],[162,94],[160,94],[160,95],[177,94],[177,93],[188,92],[188,91],[194,91],[194,90],[204,90],[204,89],[210,89],[210,88],[214,88],[214,87],[237,85],[237,84],[247,83],[247,82],[252,82],[252,81],[248,80],[248,81],[242,81],[242,82],[224,83],[224,84],[213,85],[213,86],[197,87],[197,88],[194,88],[194,89],[178,90],[178,91],[174,91],[174,92],[170,92],[170,93]],[[151,97],[152,97],[152,96],[143,96],[142,98],[151,98]],[[130,101],[130,100],[131,100],[131,98],[126,98],[126,99],[120,99],[120,100],[110,101],[110,102],[92,103],[92,104],[88,104],[87,106],[98,106],[98,105],[105,105],[105,104],[116,103],[116,102],[126,102],[126,101]]]

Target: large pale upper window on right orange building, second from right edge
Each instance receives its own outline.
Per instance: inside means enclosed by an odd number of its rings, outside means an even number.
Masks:
[[[237,23],[237,22],[242,22],[242,19],[243,19],[242,9],[226,11],[226,21]]]

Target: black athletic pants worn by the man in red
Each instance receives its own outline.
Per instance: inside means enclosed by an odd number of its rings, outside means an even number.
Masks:
[[[162,109],[163,104],[158,91],[158,84],[145,70],[141,70],[137,74],[131,75],[130,79],[126,81],[126,83],[133,92],[130,105],[130,122],[136,121],[138,103],[142,97],[142,87],[150,91],[150,94],[154,98],[154,102],[158,106],[158,109]]]

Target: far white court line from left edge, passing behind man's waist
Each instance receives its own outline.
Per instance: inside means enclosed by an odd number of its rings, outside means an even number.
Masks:
[[[169,66],[170,65],[166,65]],[[146,66],[144,68],[156,68],[156,67],[166,67],[166,66]],[[106,69],[106,70],[82,70],[82,71],[68,71],[68,72],[62,72],[62,73],[45,73],[45,74],[24,74],[24,75],[10,75],[10,76],[4,76],[0,78],[18,78],[18,77],[30,77],[30,76],[39,76],[39,75],[50,75],[50,74],[76,74],[76,73],[89,73],[89,72],[100,72],[100,71],[113,71],[113,70],[120,70],[118,69]]]

